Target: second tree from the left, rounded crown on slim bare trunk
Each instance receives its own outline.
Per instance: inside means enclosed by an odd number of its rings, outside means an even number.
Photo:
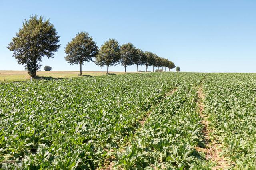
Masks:
[[[98,46],[87,32],[79,32],[65,48],[66,61],[70,64],[80,65],[82,75],[82,64],[93,61],[92,58],[98,54]]]

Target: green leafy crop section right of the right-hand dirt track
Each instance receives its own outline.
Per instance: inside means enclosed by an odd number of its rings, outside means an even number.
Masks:
[[[256,167],[256,75],[212,73],[204,83],[212,140],[237,169]]]

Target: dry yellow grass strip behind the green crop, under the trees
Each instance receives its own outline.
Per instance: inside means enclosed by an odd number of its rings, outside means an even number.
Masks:
[[[109,72],[110,74],[124,74],[124,72]],[[129,72],[135,73],[135,72]],[[60,79],[78,77],[79,71],[38,71],[36,79]],[[82,71],[83,76],[98,76],[106,74],[105,71]],[[26,71],[0,71],[0,83],[29,81]]]

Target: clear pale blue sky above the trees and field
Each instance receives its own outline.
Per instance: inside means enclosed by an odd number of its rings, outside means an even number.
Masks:
[[[181,71],[256,72],[256,0],[1,0],[0,70],[24,70],[6,46],[32,14],[50,18],[61,37],[54,59],[42,62],[53,70],[79,70],[66,63],[64,47],[78,31],[86,31],[99,47],[109,38],[120,45],[132,42],[170,59]],[[106,71],[94,63],[82,69]]]

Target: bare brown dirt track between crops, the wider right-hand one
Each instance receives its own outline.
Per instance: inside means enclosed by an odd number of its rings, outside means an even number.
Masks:
[[[212,168],[212,170],[218,170],[218,169],[228,169],[230,165],[226,160],[224,160],[223,157],[220,157],[220,146],[221,144],[216,144],[215,142],[210,143],[210,137],[209,137],[209,122],[207,121],[207,117],[204,114],[204,93],[202,89],[202,85],[198,89],[198,106],[199,106],[199,113],[200,116],[202,117],[201,123],[204,125],[204,128],[202,130],[203,138],[204,138],[204,144],[205,148],[201,147],[196,147],[196,150],[199,152],[204,152],[206,155],[205,158],[206,160],[212,160],[213,162],[216,162],[216,166]]]

